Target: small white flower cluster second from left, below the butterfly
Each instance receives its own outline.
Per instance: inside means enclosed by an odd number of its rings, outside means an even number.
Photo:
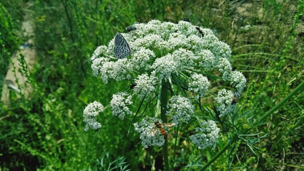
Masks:
[[[118,92],[117,94],[113,94],[111,100],[111,107],[113,110],[113,116],[118,116],[119,119],[123,120],[124,116],[131,115],[132,111],[130,111],[127,105],[132,104],[131,101],[132,96],[126,92]]]

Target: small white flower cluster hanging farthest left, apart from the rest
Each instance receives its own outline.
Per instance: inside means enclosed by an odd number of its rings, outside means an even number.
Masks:
[[[84,108],[84,122],[86,125],[84,127],[84,131],[88,131],[89,127],[93,128],[94,130],[101,128],[101,124],[96,120],[99,112],[103,109],[103,105],[99,102],[89,103]]]

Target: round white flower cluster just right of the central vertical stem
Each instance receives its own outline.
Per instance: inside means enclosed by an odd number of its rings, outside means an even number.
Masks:
[[[173,123],[176,123],[176,125],[182,121],[188,123],[191,119],[190,114],[194,113],[192,103],[183,96],[172,96],[167,107],[169,110],[166,115],[171,116]]]

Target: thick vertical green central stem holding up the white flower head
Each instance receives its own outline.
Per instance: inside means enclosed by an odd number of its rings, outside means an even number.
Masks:
[[[161,92],[161,110],[160,110],[160,114],[161,114],[161,119],[163,121],[163,123],[168,122],[167,116],[166,116],[166,112],[167,112],[167,103],[168,103],[168,89],[167,87],[169,87],[169,82],[167,81],[165,83],[165,81],[163,81],[162,84],[162,92]],[[165,163],[165,171],[169,171],[169,160],[168,160],[168,135],[164,136],[165,138],[165,144],[164,144],[164,148],[163,148],[163,155],[164,155],[164,163]]]

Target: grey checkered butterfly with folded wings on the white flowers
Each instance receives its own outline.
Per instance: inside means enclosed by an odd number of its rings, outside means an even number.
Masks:
[[[128,42],[126,39],[123,38],[123,36],[118,33],[115,35],[115,48],[114,48],[114,54],[118,59],[123,59],[127,56],[129,56],[132,52],[132,49],[130,48]]]

